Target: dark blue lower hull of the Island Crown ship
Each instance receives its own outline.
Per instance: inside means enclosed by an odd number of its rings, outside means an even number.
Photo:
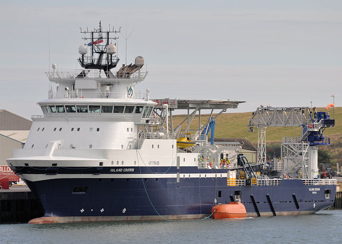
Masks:
[[[159,215],[201,218],[216,203],[234,201],[239,191],[247,216],[314,213],[331,206],[336,193],[336,185],[304,185],[301,180],[227,186],[224,177],[180,178],[179,183],[176,178],[64,178],[26,183],[41,200],[45,217],[72,217],[74,221],[162,219]]]

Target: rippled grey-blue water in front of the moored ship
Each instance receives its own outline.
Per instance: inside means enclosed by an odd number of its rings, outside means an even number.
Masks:
[[[0,243],[342,243],[342,210],[240,220],[2,224]]]

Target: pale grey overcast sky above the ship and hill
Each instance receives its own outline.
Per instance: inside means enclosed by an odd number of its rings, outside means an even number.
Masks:
[[[150,98],[246,101],[227,112],[248,112],[260,104],[325,107],[335,94],[341,106],[341,0],[0,4],[0,109],[28,119],[42,114],[44,72],[51,63],[80,68],[80,27],[97,28],[99,20],[103,29],[121,27],[118,66],[131,33],[127,63],[144,57],[149,74],[137,89],[150,88]]]

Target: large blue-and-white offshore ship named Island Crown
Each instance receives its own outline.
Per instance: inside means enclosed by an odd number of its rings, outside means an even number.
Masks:
[[[52,64],[46,72],[43,115],[31,117],[24,147],[7,159],[43,205],[44,216],[29,223],[206,219],[213,206],[232,202],[242,203],[247,217],[295,215],[334,203],[336,180],[319,179],[315,163],[300,168],[287,158],[292,164],[271,178],[279,165],[250,163],[238,143],[214,144],[216,118],[244,101],[150,99],[150,89],[137,91],[148,74],[144,59],[118,67],[119,34],[101,22],[81,29],[82,69]],[[187,112],[177,126],[175,111]],[[201,121],[201,111],[209,119]],[[333,124],[324,116],[304,124],[319,143]],[[310,146],[310,136],[303,138]]]

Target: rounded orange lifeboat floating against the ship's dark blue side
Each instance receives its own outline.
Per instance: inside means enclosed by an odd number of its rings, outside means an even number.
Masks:
[[[213,219],[246,218],[245,205],[239,202],[218,204],[212,208]]]

